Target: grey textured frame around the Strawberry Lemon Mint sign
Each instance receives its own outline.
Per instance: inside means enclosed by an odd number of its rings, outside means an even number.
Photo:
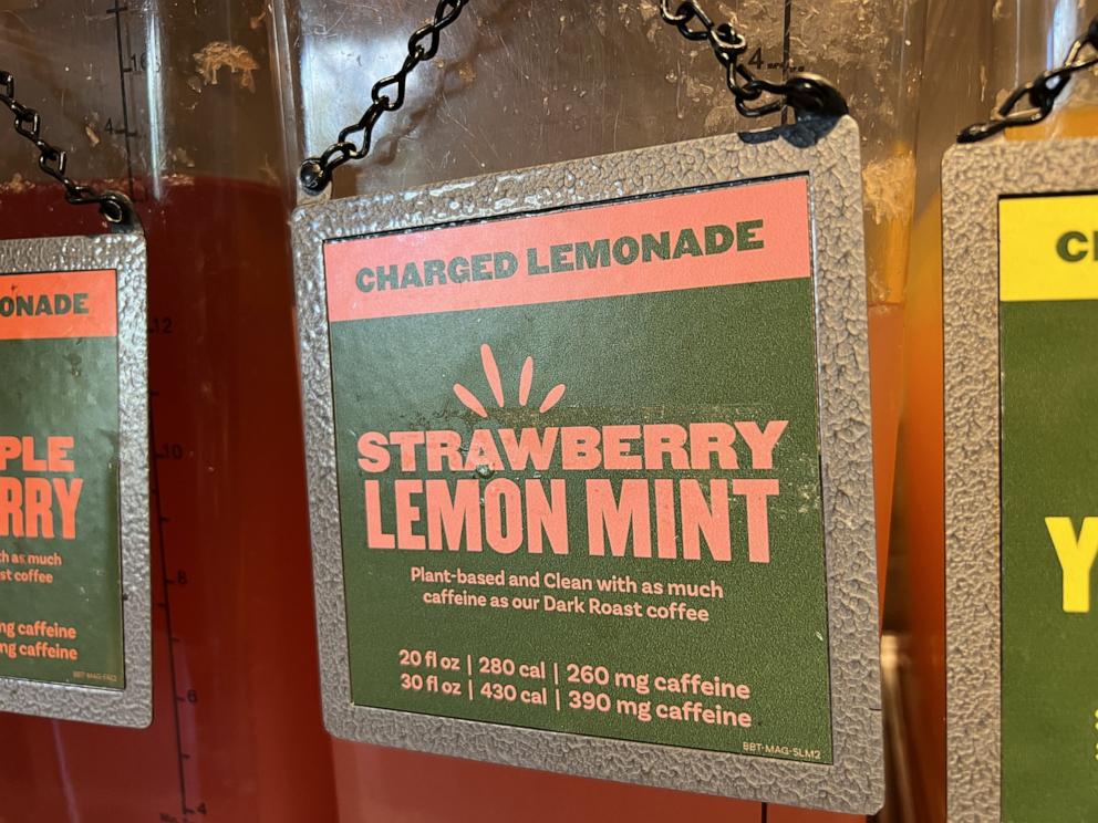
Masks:
[[[869,813],[883,799],[866,264],[858,127],[805,119],[403,192],[313,202],[292,219],[325,725],[340,738],[589,778]],[[807,175],[814,237],[833,764],[711,752],[354,705],[324,243],[624,197]]]

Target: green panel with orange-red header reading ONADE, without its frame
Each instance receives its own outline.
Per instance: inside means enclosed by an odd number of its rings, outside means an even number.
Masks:
[[[0,275],[0,677],[125,686],[115,281]]]

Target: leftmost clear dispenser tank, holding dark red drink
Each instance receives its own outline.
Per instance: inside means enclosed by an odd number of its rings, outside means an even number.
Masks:
[[[253,0],[0,0],[21,97],[144,221],[155,457],[154,723],[0,715],[3,823],[335,816],[269,24]],[[100,230],[0,143],[0,236]]]

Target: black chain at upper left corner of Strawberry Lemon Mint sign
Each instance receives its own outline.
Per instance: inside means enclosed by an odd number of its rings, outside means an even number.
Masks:
[[[408,75],[419,63],[432,60],[438,53],[438,35],[462,14],[469,0],[441,0],[435,7],[435,18],[417,29],[408,39],[408,54],[396,74],[374,83],[370,92],[370,107],[358,123],[342,132],[334,144],[319,157],[310,157],[301,164],[301,185],[307,191],[319,194],[332,181],[332,173],[348,160],[358,160],[370,153],[374,126],[385,112],[395,112],[404,105],[404,93]],[[352,140],[355,133],[362,133],[362,145]]]

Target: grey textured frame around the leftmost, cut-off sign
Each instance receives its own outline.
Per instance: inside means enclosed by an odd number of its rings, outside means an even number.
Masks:
[[[153,720],[145,238],[139,229],[0,242],[4,274],[113,270],[118,295],[118,456],[125,687],[0,677],[0,711],[145,728]]]

